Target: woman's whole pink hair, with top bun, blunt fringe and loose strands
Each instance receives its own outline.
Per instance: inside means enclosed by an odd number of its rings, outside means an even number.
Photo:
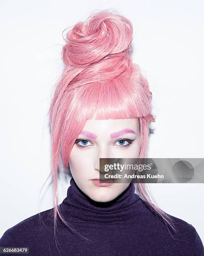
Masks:
[[[112,10],[94,13],[67,32],[62,48],[65,67],[49,109],[49,177],[54,189],[55,228],[58,214],[63,225],[74,230],[57,205],[57,173],[68,172],[72,177],[69,155],[86,120],[139,118],[139,158],[147,157],[149,124],[155,122],[155,117],[151,114],[152,93],[147,79],[132,63],[132,34],[132,23]],[[134,183],[134,187],[152,211],[176,232],[170,216],[151,202],[146,184]]]

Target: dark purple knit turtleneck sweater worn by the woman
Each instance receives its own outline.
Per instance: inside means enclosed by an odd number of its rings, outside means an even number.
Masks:
[[[29,247],[30,256],[204,255],[195,228],[169,215],[178,230],[175,234],[135,194],[133,183],[107,203],[91,200],[73,178],[70,185],[60,212],[75,231],[57,219],[54,237],[52,208],[6,230],[0,247]]]

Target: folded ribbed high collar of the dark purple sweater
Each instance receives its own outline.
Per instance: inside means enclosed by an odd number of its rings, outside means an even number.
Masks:
[[[67,221],[90,223],[128,223],[136,218],[136,202],[139,195],[134,193],[134,184],[118,197],[109,202],[96,202],[77,186],[74,179],[70,180],[67,197],[60,205],[62,216]]]

